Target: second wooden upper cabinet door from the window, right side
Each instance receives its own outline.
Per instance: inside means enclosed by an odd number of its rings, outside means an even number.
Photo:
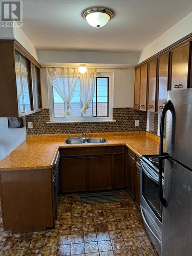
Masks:
[[[141,82],[140,82],[140,110],[146,111],[147,102],[147,64],[141,67]]]

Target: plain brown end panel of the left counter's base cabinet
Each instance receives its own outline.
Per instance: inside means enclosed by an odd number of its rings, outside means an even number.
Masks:
[[[0,172],[4,230],[13,233],[55,226],[52,169]]]

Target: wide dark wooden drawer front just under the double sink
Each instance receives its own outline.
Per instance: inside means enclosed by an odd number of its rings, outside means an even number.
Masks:
[[[61,148],[61,157],[111,155],[111,146]]]

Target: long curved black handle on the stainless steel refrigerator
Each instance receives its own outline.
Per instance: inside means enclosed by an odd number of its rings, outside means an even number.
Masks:
[[[167,111],[172,113],[172,129],[175,127],[175,109],[172,101],[168,100],[164,108],[161,112],[161,125],[160,125],[160,145],[159,145],[159,199],[164,207],[166,207],[167,202],[163,198],[163,191],[162,191],[162,169],[163,169],[163,159],[167,158],[167,154],[163,153],[163,139],[164,139],[164,122],[165,122],[165,115]],[[174,136],[174,131],[172,132]],[[172,138],[173,139],[173,138]]]

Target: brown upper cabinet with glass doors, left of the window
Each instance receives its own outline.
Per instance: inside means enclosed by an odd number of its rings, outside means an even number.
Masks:
[[[14,40],[0,40],[0,56],[0,117],[20,117],[39,111],[39,63]],[[35,72],[31,70],[33,66]]]

